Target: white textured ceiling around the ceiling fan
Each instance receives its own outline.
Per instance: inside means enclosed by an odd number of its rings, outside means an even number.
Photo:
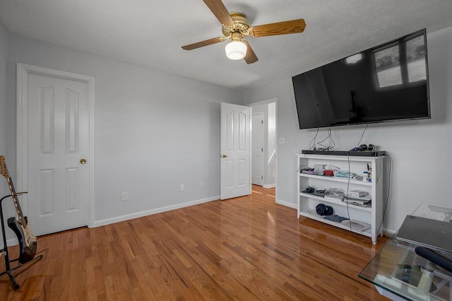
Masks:
[[[183,50],[220,37],[202,0],[0,0],[10,33],[246,90],[295,76],[415,30],[452,26],[451,0],[223,0],[251,25],[304,18],[304,33],[249,37],[258,61],[225,56],[227,42]]]

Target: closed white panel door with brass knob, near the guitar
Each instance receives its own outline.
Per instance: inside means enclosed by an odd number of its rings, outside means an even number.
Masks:
[[[88,225],[90,86],[28,73],[26,172],[28,219],[35,235]],[[23,133],[22,133],[23,134]]]

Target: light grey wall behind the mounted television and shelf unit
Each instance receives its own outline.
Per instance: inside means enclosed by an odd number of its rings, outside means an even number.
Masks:
[[[384,223],[388,232],[397,230],[405,216],[423,201],[452,206],[452,180],[448,175],[452,170],[452,28],[429,33],[427,48],[432,119],[369,124],[362,140],[379,146],[393,160]],[[276,199],[278,203],[296,206],[295,153],[309,148],[316,130],[299,129],[291,78],[244,93],[247,105],[268,98],[278,98],[278,136],[285,138],[285,144],[278,145]],[[356,146],[364,127],[331,128],[335,149],[343,151]],[[326,136],[326,129],[321,129],[317,141]]]

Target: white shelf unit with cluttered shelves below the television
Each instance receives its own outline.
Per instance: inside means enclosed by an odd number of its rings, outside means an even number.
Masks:
[[[335,227],[371,237],[373,243],[379,235],[383,233],[383,159],[384,156],[366,157],[366,156],[348,156],[348,155],[307,155],[297,154],[297,218],[305,216],[322,223],[334,225]],[[340,177],[328,177],[319,175],[309,175],[301,172],[304,168],[313,168],[315,164],[334,165],[340,167],[340,170],[355,172],[362,176],[367,171],[367,165],[371,167],[371,182],[357,179],[347,179]],[[303,193],[309,185],[313,185],[316,190],[338,188],[345,194],[347,191],[359,189],[367,191],[371,197],[371,206],[362,207],[345,203],[340,199],[331,199],[314,194]],[[363,223],[370,224],[370,228],[365,230],[350,229],[350,223],[338,223],[326,220],[323,216],[316,213],[316,206],[324,203],[326,206],[333,207],[334,214],[349,218],[350,220],[358,220]]]

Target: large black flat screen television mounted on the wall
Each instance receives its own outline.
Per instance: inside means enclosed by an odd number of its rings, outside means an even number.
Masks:
[[[300,129],[430,118],[426,30],[292,77]]]

